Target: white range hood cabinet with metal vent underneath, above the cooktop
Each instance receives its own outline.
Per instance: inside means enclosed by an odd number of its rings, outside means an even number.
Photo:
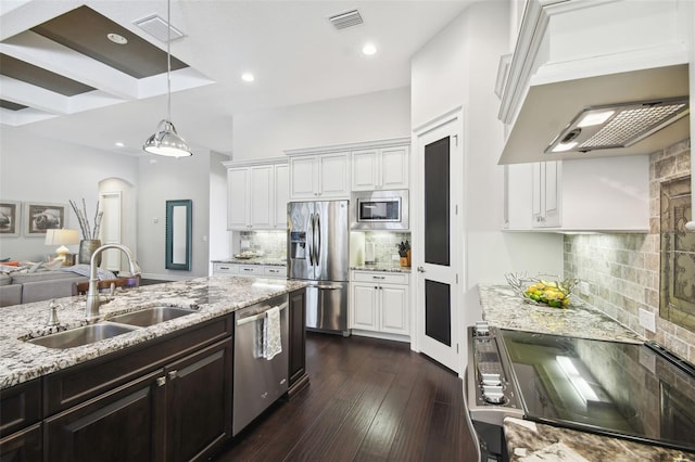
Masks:
[[[508,133],[501,164],[649,154],[688,138],[681,103],[664,111],[664,124],[654,121],[650,110],[690,95],[691,0],[528,0],[522,17],[510,41],[511,62],[500,66],[497,79],[498,117]],[[621,128],[620,110],[607,115],[609,128],[594,137],[601,126],[590,125],[582,111],[601,107],[606,114],[604,106],[627,103],[643,103],[632,115],[649,114],[640,123],[644,138]],[[565,130],[580,120],[578,129]],[[627,127],[640,124],[631,119]],[[554,141],[563,146],[548,147]]]

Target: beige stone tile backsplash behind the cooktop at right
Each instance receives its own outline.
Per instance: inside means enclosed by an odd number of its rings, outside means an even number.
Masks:
[[[581,298],[695,363],[695,332],[659,317],[660,184],[688,176],[690,168],[690,140],[652,154],[649,233],[568,234],[564,269],[584,283],[576,290]],[[655,315],[656,333],[640,325],[641,308]]]

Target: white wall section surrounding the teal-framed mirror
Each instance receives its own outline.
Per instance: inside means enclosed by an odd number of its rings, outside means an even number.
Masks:
[[[210,169],[206,151],[178,159],[139,158],[138,260],[143,277],[180,280],[208,274]],[[177,200],[193,202],[190,271],[165,269],[166,201]]]

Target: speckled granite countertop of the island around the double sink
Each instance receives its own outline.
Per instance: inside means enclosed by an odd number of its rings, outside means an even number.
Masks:
[[[179,329],[217,318],[237,309],[306,286],[302,281],[218,275],[146,285],[116,293],[100,307],[102,317],[151,306],[186,307],[197,310],[170,321],[138,329],[90,345],[55,349],[23,342],[88,324],[86,296],[58,298],[59,326],[47,326],[49,301],[2,308],[0,328],[0,389],[30,381],[126,347],[166,335]]]

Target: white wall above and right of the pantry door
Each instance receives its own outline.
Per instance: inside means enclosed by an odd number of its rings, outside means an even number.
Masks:
[[[509,271],[561,274],[563,239],[505,233],[504,145],[494,86],[500,55],[508,53],[509,4],[479,2],[465,10],[413,57],[412,125],[464,107],[464,227],[467,254],[463,321],[480,319],[477,284],[505,283]]]

